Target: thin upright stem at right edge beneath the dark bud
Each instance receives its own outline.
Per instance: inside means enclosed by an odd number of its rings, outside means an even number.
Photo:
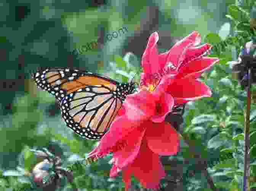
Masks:
[[[243,191],[247,190],[247,177],[248,177],[248,150],[250,145],[249,132],[250,132],[250,107],[251,107],[251,69],[248,69],[248,87],[247,87],[247,108],[246,108],[246,122],[245,122],[245,156],[243,166]]]

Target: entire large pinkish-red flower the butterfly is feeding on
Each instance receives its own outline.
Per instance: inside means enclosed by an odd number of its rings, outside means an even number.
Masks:
[[[142,57],[141,81],[146,83],[138,93],[126,97],[109,131],[89,153],[88,157],[98,158],[112,152],[110,177],[122,170],[126,190],[131,184],[131,174],[146,188],[158,187],[165,176],[159,155],[175,155],[179,147],[179,136],[170,123],[164,122],[165,116],[174,104],[211,95],[210,89],[197,77],[218,58],[199,58],[199,53],[205,52],[202,47],[208,50],[210,45],[192,47],[200,41],[198,36],[194,32],[160,55],[156,48],[157,33],[150,36]],[[161,68],[167,69],[163,72]],[[158,71],[160,78],[149,78]]]

